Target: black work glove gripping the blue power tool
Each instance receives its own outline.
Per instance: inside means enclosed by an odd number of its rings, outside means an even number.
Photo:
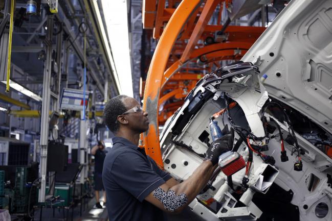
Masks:
[[[226,128],[226,129],[225,129]],[[210,160],[212,165],[215,165],[219,161],[219,156],[223,153],[232,150],[234,141],[234,131],[228,130],[226,126],[223,130],[224,136],[213,141],[206,151],[206,156],[204,160]],[[225,132],[228,132],[227,134]]]

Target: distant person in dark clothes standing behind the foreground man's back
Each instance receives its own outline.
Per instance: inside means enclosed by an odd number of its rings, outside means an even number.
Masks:
[[[94,180],[95,180],[95,197],[96,197],[96,208],[102,209],[102,205],[100,204],[99,200],[99,192],[104,191],[103,193],[103,205],[106,204],[106,192],[103,186],[102,182],[102,171],[103,171],[103,164],[105,160],[107,151],[105,151],[105,144],[103,141],[98,141],[98,144],[95,145],[91,149],[91,154],[95,156],[95,174],[94,174]]]

